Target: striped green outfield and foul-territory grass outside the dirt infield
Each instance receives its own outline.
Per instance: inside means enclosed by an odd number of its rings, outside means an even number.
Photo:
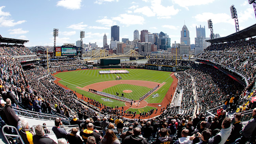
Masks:
[[[159,94],[159,97],[151,98],[151,96],[149,96],[146,99],[148,103],[160,103],[162,102],[163,97],[169,90],[169,87],[171,86],[173,81],[172,77],[170,76],[171,72],[167,72],[167,71],[156,71],[156,70],[147,70],[147,69],[127,69],[130,72],[129,74],[100,75],[99,70],[103,70],[103,69],[66,71],[66,72],[56,74],[55,76],[61,79],[59,83],[63,85],[68,85],[69,89],[74,91],[76,90],[77,93],[79,94],[83,94],[86,97],[96,99],[101,103],[104,103],[108,106],[113,106],[113,107],[114,106],[122,107],[122,106],[125,106],[125,103],[122,101],[114,100],[114,99],[113,99],[114,102],[106,102],[101,99],[103,96],[99,96],[99,95],[87,92],[85,90],[78,89],[76,87],[77,86],[84,87],[86,85],[97,83],[97,82],[115,80],[116,76],[122,77],[122,80],[144,80],[144,81],[153,81],[158,83],[166,82],[157,92],[155,92]],[[113,70],[122,70],[122,69],[113,69]],[[132,87],[131,88],[127,87],[126,89],[132,90]],[[119,95],[121,93],[119,93]],[[141,96],[138,96],[138,97],[141,97]],[[103,97],[103,98],[106,98],[106,97]]]

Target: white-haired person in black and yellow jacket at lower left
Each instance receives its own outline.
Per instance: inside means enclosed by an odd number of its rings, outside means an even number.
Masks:
[[[21,129],[19,135],[25,144],[33,144],[33,132],[29,129],[29,123],[26,119],[21,120]]]

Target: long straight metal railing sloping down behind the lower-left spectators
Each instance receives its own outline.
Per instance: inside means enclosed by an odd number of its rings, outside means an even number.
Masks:
[[[12,107],[13,110],[16,112],[18,116],[26,117],[26,118],[32,118],[32,119],[38,119],[42,121],[55,121],[57,117],[60,117],[63,124],[69,125],[69,119],[66,116],[63,115],[51,115],[51,114],[45,114],[45,113],[39,113],[34,111],[29,111],[25,109],[20,109],[16,107]]]

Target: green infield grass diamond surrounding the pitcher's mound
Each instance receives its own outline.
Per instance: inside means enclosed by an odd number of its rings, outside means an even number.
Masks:
[[[131,93],[124,93],[124,90],[131,90]],[[148,91],[150,91],[148,87],[145,86],[138,86],[138,85],[131,85],[131,84],[117,84],[114,86],[111,86],[107,89],[104,89],[103,92],[116,95],[116,92],[119,93],[119,96],[122,96],[122,93],[126,98],[133,99],[133,100],[139,100],[141,96],[146,94]]]

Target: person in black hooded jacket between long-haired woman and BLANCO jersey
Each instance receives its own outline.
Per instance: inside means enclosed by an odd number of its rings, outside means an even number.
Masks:
[[[133,129],[133,135],[130,135],[124,139],[124,144],[147,144],[146,139],[139,137],[141,134],[141,128],[135,127]]]

